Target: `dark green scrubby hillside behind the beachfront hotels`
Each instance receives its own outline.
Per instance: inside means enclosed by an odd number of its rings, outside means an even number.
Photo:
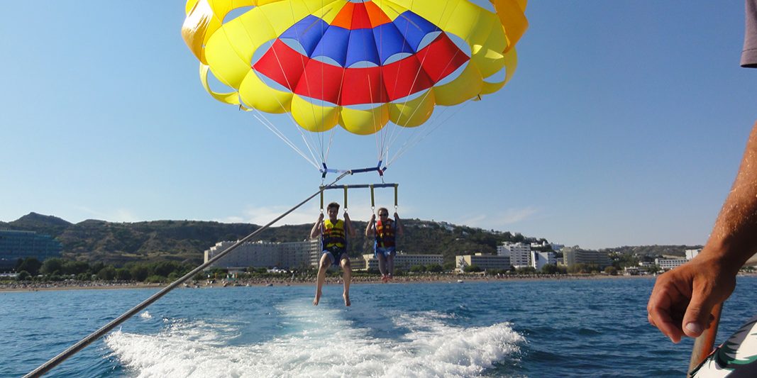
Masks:
[[[406,253],[441,254],[445,261],[469,253],[495,253],[503,241],[533,242],[533,237],[509,232],[404,219],[405,235],[399,247]],[[350,240],[350,256],[372,253],[372,240],[366,240],[366,222],[354,222],[357,237]],[[269,228],[256,240],[298,241],[310,234],[312,225],[285,225]],[[61,218],[30,213],[0,228],[36,231],[61,241],[64,256],[72,259],[121,265],[130,261],[175,260],[198,264],[203,252],[221,240],[238,240],[260,228],[243,223],[203,221],[153,221],[114,223],[89,219],[72,224]],[[543,239],[542,239],[543,240]],[[539,241],[542,241],[539,240]]]

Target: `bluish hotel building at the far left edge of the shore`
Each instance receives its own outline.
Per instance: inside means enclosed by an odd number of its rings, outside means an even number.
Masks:
[[[34,231],[0,230],[0,270],[16,267],[18,259],[33,257],[39,261],[61,257],[58,240]]]

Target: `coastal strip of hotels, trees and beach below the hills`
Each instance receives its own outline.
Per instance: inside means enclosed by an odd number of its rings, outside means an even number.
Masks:
[[[453,225],[439,222],[442,228]],[[237,240],[224,240],[205,249],[203,261],[223,253]],[[71,261],[55,237],[35,231],[0,229],[0,290],[60,288],[155,287],[191,271],[188,262],[126,263]],[[241,243],[213,262],[185,287],[291,285],[312,283],[321,254],[318,239]],[[394,259],[394,282],[496,280],[516,278],[615,277],[657,274],[692,259],[700,248],[684,249],[684,256],[648,256],[612,250],[582,249],[546,240],[502,242],[495,253],[460,253],[452,261],[440,253],[409,253],[400,249]],[[355,282],[376,282],[378,259],[372,253],[350,256]],[[332,272],[327,282],[338,282]]]

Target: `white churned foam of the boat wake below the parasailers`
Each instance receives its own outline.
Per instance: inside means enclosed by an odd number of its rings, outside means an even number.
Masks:
[[[329,308],[282,305],[294,330],[254,345],[228,345],[233,325],[177,322],[157,335],[115,332],[105,342],[139,377],[477,376],[515,358],[525,339],[510,324],[453,327],[434,312],[394,317],[410,330],[377,339]]]

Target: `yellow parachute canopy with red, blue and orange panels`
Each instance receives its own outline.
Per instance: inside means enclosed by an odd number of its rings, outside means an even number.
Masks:
[[[369,135],[509,81],[526,0],[490,1],[188,0],[182,37],[213,98]],[[213,91],[210,73],[233,91]]]

